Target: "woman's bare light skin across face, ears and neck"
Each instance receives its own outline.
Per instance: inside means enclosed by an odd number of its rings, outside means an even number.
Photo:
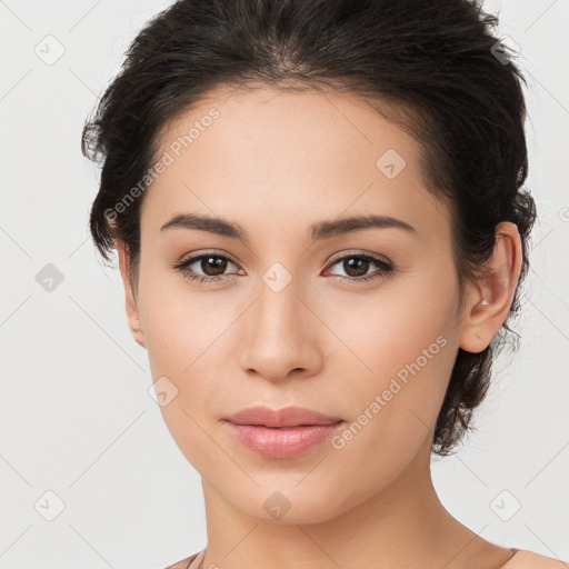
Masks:
[[[211,108],[220,117],[144,194],[134,284],[117,241],[130,328],[153,380],[166,376],[178,389],[160,409],[202,478],[203,567],[500,567],[511,551],[439,501],[430,446],[458,348],[483,350],[508,315],[521,266],[516,226],[498,226],[488,277],[468,287],[457,317],[449,212],[426,189],[412,138],[353,94],[219,89],[168,124],[162,150]],[[389,149],[407,162],[395,179],[376,167]],[[161,231],[179,212],[237,222],[249,241]],[[416,231],[310,240],[315,222],[369,213]],[[237,261],[224,281],[201,284],[172,268],[212,250]],[[331,262],[350,253],[396,270]],[[279,292],[262,279],[276,262],[292,278]],[[445,347],[342,449],[325,442],[293,459],[263,458],[221,421],[253,405],[296,405],[350,425],[438,337]],[[274,491],[291,506],[280,519],[263,508]]]

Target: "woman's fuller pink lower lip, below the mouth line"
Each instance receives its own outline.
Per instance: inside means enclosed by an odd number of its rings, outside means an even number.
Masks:
[[[343,421],[333,425],[311,425],[271,429],[256,425],[226,421],[237,440],[267,458],[295,458],[331,437]]]

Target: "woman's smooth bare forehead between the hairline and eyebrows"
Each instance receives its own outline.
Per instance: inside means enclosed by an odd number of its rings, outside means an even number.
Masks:
[[[182,210],[240,217],[263,230],[348,210],[418,229],[428,229],[429,216],[440,227],[446,216],[423,186],[419,144],[350,93],[218,89],[169,121],[159,141],[157,159],[168,166],[147,192],[141,220],[153,230]]]

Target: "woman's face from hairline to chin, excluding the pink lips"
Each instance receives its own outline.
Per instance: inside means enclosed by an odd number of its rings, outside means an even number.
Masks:
[[[448,210],[418,150],[355,96],[313,91],[219,90],[164,131],[130,317],[176,442],[242,512],[274,521],[279,491],[287,522],[330,519],[428,456],[461,328]],[[163,228],[180,214],[234,234]],[[268,457],[223,420],[252,406],[343,423]]]

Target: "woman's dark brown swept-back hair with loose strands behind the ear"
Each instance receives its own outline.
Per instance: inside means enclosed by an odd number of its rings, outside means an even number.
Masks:
[[[208,91],[330,89],[373,101],[418,140],[427,187],[452,213],[461,307],[465,283],[476,282],[491,257],[497,224],[511,221],[521,234],[522,270],[508,318],[483,351],[457,356],[432,440],[435,452],[449,453],[470,427],[493,357],[511,332],[536,218],[522,189],[526,81],[492,34],[497,26],[496,16],[469,0],[174,2],[136,37],[82,132],[83,154],[102,164],[90,217],[97,248],[109,261],[113,240],[124,241],[137,282],[143,194],[120,211],[116,206],[140,188],[164,124]]]

